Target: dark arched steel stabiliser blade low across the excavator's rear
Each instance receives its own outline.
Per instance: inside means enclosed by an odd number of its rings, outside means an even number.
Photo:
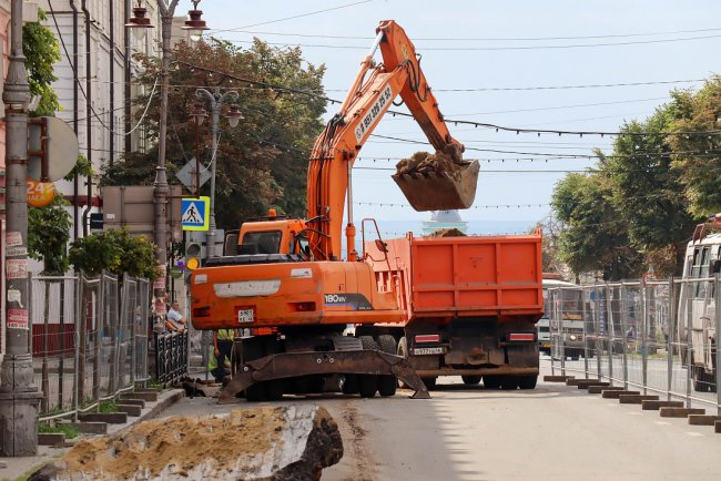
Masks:
[[[430,399],[428,389],[407,359],[377,350],[281,352],[243,364],[219,393],[219,403],[236,402],[236,396],[256,382],[303,375],[393,375],[415,392],[412,399]]]

